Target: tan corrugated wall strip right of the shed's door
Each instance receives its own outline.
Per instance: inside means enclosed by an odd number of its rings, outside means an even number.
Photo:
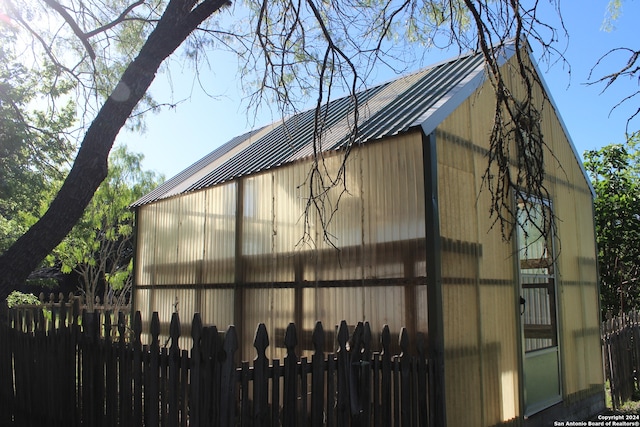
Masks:
[[[510,70],[518,88],[515,70]],[[519,87],[522,91],[522,86]],[[542,98],[535,88],[537,99]],[[593,199],[581,165],[552,105],[543,108],[546,180],[557,216],[556,265],[563,399],[603,393]]]

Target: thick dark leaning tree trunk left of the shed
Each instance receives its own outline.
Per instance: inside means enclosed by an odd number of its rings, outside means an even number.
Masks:
[[[80,145],[62,188],[47,212],[0,256],[0,303],[37,268],[82,217],[107,176],[116,136],[149,89],[160,64],[226,0],[171,0],[137,58],[129,64]]]

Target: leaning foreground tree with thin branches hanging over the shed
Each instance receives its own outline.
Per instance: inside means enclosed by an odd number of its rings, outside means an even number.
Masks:
[[[317,99],[316,164],[308,180],[319,196],[310,197],[308,208],[321,213],[327,211],[323,199],[327,192],[317,189],[344,185],[344,169],[329,181],[318,173],[323,108],[328,108],[333,94],[346,91],[351,95],[353,115],[346,156],[360,141],[355,94],[367,86],[373,70],[395,64],[392,66],[400,71],[416,59],[412,57],[416,45],[424,55],[431,49],[476,49],[485,59],[496,94],[485,188],[493,197],[491,213],[503,235],[510,235],[516,221],[513,191],[547,196],[539,126],[544,105],[532,97],[540,82],[521,55],[531,43],[542,58],[555,53],[562,60],[557,36],[564,27],[558,0],[532,4],[509,0],[247,0],[215,16],[229,5],[226,1],[4,0],[2,4],[6,12],[0,22],[28,37],[24,43],[34,53],[31,68],[40,72],[51,66],[61,81],[72,81],[76,104],[83,106],[79,125],[83,131],[89,125],[74,165],[47,212],[0,257],[0,298],[24,280],[82,216],[106,177],[108,153],[119,130],[126,123],[138,125],[138,114],[155,106],[147,89],[162,62],[185,41],[182,52],[195,60],[196,69],[207,64],[208,49],[237,52],[244,64],[243,77],[255,84],[252,105],[267,100],[287,115],[297,110],[301,100]],[[555,21],[540,20],[546,9]],[[42,23],[48,27],[43,28]],[[515,72],[529,88],[518,98],[507,87],[508,79],[499,66],[504,57],[501,46],[508,40],[515,43]],[[513,173],[510,156],[514,152],[536,153],[535,161],[529,156],[516,159],[518,168]]]

